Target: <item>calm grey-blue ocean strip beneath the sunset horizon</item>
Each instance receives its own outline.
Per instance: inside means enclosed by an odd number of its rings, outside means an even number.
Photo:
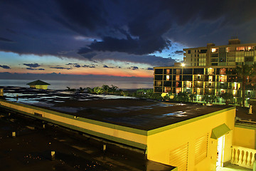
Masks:
[[[0,79],[0,86],[18,86],[18,87],[29,87],[26,85],[34,80],[9,80],[9,79]],[[67,80],[43,80],[46,83],[49,83],[48,89],[51,90],[65,90],[69,88],[93,88],[101,87],[102,85],[114,85],[117,86],[117,89],[139,89],[139,88],[153,88],[152,82],[139,82],[139,81],[67,81]]]

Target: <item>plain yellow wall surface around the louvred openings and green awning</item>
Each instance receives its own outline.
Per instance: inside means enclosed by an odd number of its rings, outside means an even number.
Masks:
[[[233,130],[235,121],[235,109],[224,111],[216,115],[211,115],[208,118],[186,123],[161,133],[149,135],[148,144],[148,159],[156,162],[162,162],[169,165],[169,153],[171,150],[188,143],[188,170],[207,171],[215,170],[217,158],[217,140],[210,138],[213,128],[225,123],[228,128]],[[208,134],[208,155],[206,158],[195,165],[195,141],[203,135]],[[225,143],[224,162],[230,160],[230,152],[232,145],[232,131],[226,136],[228,140]],[[175,166],[175,165],[174,165]]]

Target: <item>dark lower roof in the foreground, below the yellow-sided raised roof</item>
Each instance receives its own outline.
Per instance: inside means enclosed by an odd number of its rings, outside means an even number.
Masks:
[[[0,170],[149,170],[142,152],[0,110]],[[12,137],[12,132],[16,137]],[[52,160],[51,151],[55,151]],[[159,165],[163,170],[170,166]]]

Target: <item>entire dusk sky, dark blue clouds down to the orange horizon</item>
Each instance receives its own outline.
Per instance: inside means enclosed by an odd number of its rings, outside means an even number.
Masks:
[[[183,48],[225,45],[234,36],[256,43],[255,6],[255,0],[0,0],[0,78],[151,79],[154,67],[182,62]]]

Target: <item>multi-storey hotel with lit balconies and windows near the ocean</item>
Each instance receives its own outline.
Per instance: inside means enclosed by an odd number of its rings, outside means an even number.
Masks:
[[[230,39],[228,45],[184,48],[184,65],[175,63],[169,67],[154,68],[154,92],[163,95],[179,92],[194,93],[195,101],[202,101],[203,95],[216,95],[217,103],[224,103],[222,93],[232,93],[235,103],[242,97],[242,78],[230,75],[237,66],[256,62],[256,43],[241,44],[238,38]],[[255,98],[256,81],[247,78],[245,97]]]

